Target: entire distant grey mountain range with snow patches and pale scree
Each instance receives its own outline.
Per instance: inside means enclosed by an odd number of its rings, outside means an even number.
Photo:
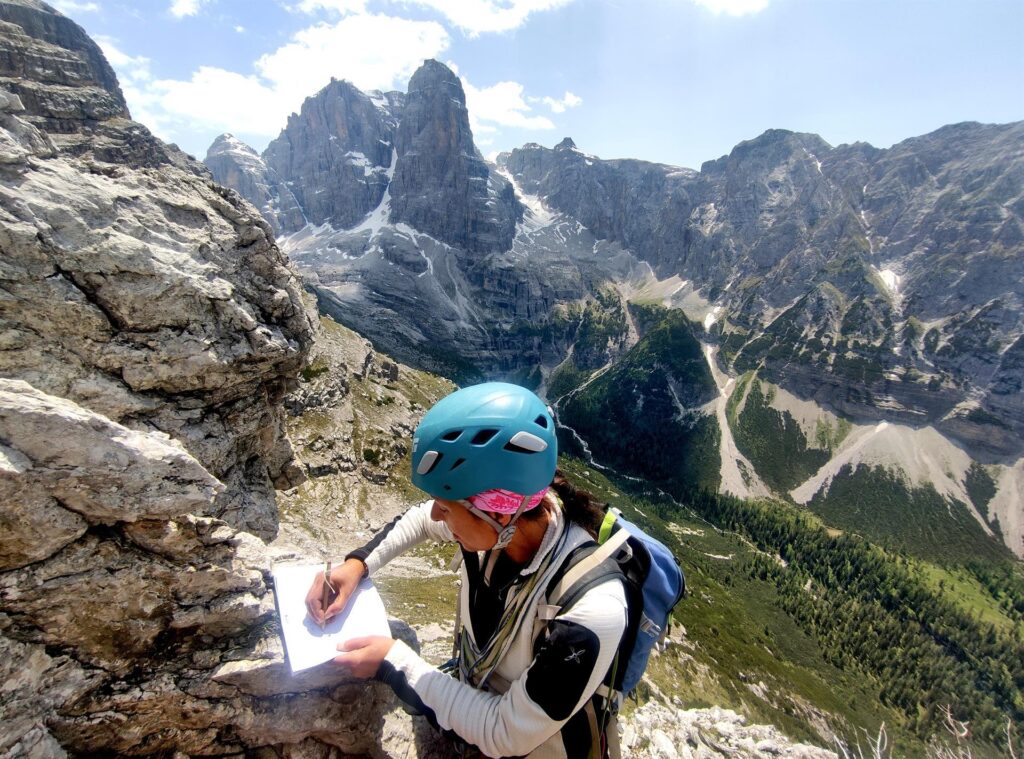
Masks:
[[[206,164],[262,211],[322,310],[382,349],[530,384],[585,440],[586,414],[625,404],[626,450],[671,417],[657,445],[682,456],[692,434],[717,454],[645,469],[595,448],[599,462],[822,513],[885,482],[1022,555],[1022,144],[1024,123],[889,150],[770,130],[699,171],[569,138],[495,165],[458,77],[427,61],[407,94],[332,82],[262,156],[222,135]],[[663,324],[673,310],[687,319]],[[656,357],[681,333],[707,359],[685,381]],[[623,380],[644,361],[662,380]]]

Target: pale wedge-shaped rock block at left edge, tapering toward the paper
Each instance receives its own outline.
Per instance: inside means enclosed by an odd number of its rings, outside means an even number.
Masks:
[[[167,435],[136,432],[19,380],[0,379],[0,439],[8,441],[0,490],[18,505],[0,514],[0,570],[55,553],[88,524],[202,514],[223,489]]]

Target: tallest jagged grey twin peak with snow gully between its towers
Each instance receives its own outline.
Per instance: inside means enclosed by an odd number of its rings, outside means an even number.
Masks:
[[[218,141],[211,158],[252,158]],[[280,235],[393,222],[464,250],[512,244],[519,212],[511,185],[477,150],[462,82],[437,60],[416,71],[408,94],[333,79],[289,117],[262,159],[265,168],[252,166],[250,176],[230,163],[209,165],[218,181],[269,209]]]

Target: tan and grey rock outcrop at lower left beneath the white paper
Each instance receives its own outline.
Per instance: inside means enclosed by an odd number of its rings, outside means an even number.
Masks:
[[[288,674],[273,554],[166,434],[3,380],[0,438],[4,756],[442,755],[384,686]]]

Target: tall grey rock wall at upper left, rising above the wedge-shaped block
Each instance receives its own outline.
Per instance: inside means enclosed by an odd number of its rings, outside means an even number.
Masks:
[[[41,3],[0,18],[19,93],[0,97],[0,373],[166,432],[224,483],[210,514],[272,536],[273,488],[297,473],[279,400],[312,337],[286,258],[251,206],[128,120],[81,30]],[[77,64],[24,65],[54,46]]]

